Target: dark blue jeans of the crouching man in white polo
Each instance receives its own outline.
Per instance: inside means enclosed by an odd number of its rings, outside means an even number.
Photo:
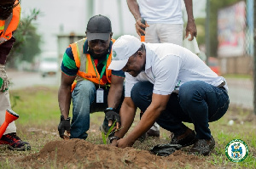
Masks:
[[[137,107],[145,112],[152,101],[154,85],[150,82],[137,82],[131,90],[131,99]],[[223,87],[213,87],[206,82],[186,82],[179,88],[179,93],[172,93],[166,110],[157,123],[160,127],[183,134],[188,127],[184,122],[193,123],[196,137],[210,139],[209,122],[218,121],[228,110],[230,99]]]

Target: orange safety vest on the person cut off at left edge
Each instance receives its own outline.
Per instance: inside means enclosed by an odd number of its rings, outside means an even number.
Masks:
[[[16,0],[15,3],[18,3]],[[20,23],[20,4],[13,8],[13,13],[7,20],[0,20],[0,44],[8,41],[13,37],[15,31]]]

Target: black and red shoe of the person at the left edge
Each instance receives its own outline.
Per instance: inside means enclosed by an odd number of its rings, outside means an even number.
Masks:
[[[0,139],[0,144],[8,145],[8,149],[17,151],[26,151],[31,149],[30,144],[22,141],[16,135],[16,132],[3,135]]]

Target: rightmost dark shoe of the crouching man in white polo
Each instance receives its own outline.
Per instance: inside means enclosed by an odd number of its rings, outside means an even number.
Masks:
[[[198,155],[209,155],[214,146],[214,138],[211,138],[208,141],[206,139],[199,139],[190,149],[190,152]]]

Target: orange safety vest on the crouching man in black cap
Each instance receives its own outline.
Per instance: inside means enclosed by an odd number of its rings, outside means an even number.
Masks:
[[[69,45],[72,48],[73,58],[75,60],[76,66],[79,68],[77,73],[76,80],[72,84],[72,90],[76,86],[78,81],[81,80],[89,80],[90,82],[94,82],[96,84],[100,84],[101,86],[106,85],[106,82],[102,82],[100,80],[100,73],[98,70],[95,70],[96,65],[90,58],[90,54],[84,54],[84,42],[86,38],[79,40],[78,42],[74,42]],[[111,39],[114,42],[114,39]],[[106,65],[106,76],[108,79],[108,83],[111,83],[111,75],[112,70],[108,70],[108,66],[110,65],[112,60],[112,51],[111,54],[108,55],[107,65]],[[83,65],[81,66],[81,62]]]

